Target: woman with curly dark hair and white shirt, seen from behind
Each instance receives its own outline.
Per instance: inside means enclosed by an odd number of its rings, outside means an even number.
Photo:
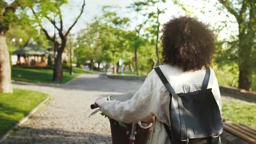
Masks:
[[[162,31],[162,56],[166,64],[159,67],[168,82],[176,93],[200,90],[215,49],[213,32],[208,25],[187,16],[170,20]],[[210,71],[208,88],[212,88],[221,111],[219,85],[213,69]],[[155,116],[150,143],[170,144],[163,124],[171,125],[168,94],[153,69],[131,100],[120,102],[100,98],[95,103],[105,115],[117,121],[143,121]]]

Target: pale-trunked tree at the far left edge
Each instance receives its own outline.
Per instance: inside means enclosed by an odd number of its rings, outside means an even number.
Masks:
[[[11,23],[16,20],[15,11],[20,7],[18,0],[10,4],[0,0],[0,92],[12,93],[11,67],[8,47],[6,43],[6,33]]]

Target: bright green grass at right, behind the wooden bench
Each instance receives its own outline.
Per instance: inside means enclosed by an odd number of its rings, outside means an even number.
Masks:
[[[256,128],[256,103],[225,101],[222,116],[235,123],[244,123]]]

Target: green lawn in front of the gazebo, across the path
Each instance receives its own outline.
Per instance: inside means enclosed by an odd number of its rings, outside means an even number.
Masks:
[[[73,67],[73,75],[69,75],[69,69],[63,69],[62,82],[54,82],[51,69],[25,69],[12,67],[12,80],[33,83],[66,83],[83,73],[92,73],[87,70]],[[20,77],[18,76],[20,75]]]

